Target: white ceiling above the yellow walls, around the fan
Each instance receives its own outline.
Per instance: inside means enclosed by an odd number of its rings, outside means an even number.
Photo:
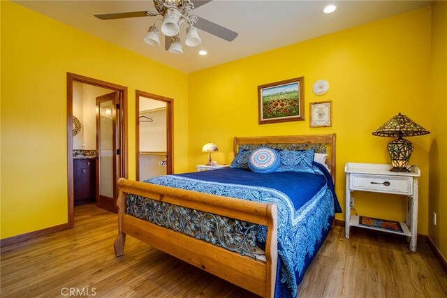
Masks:
[[[202,44],[198,47],[183,45],[184,54],[175,55],[164,50],[164,38],[161,38],[162,44],[159,47],[147,45],[142,40],[156,17],[98,20],[93,16],[94,13],[155,10],[151,0],[14,2],[186,73],[415,10],[432,3],[428,0],[214,0],[196,8],[192,14],[236,31],[239,36],[233,42],[228,42],[199,29]],[[337,6],[335,13],[323,13],[323,8],[330,3]],[[184,38],[184,31],[185,29],[181,31],[180,38]],[[207,56],[198,55],[199,50],[207,50]]]

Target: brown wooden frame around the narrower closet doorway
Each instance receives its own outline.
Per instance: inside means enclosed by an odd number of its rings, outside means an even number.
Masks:
[[[174,100],[165,96],[135,90],[135,169],[136,180],[140,180],[140,96],[166,103],[166,174],[174,173]]]

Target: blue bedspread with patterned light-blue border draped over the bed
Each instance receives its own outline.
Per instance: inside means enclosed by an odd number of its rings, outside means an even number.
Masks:
[[[146,182],[256,202],[278,208],[276,297],[296,297],[305,270],[323,243],[335,212],[341,212],[330,174],[314,163],[316,174],[223,168],[155,177]],[[265,245],[266,230],[256,235]],[[249,278],[249,277],[247,277]]]

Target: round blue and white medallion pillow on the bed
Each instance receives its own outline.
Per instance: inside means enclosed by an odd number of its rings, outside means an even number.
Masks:
[[[253,172],[271,173],[278,169],[281,161],[276,150],[261,147],[253,151],[248,163]]]

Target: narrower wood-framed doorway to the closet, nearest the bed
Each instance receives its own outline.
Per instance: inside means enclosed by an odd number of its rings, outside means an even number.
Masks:
[[[135,93],[136,179],[173,174],[173,99]]]

